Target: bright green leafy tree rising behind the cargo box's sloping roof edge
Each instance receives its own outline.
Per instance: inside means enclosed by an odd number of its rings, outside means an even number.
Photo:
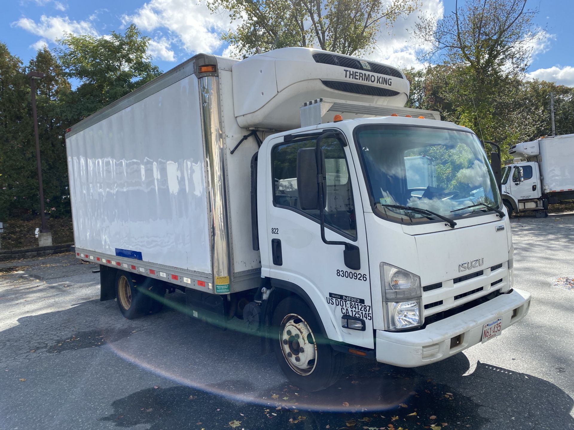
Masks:
[[[147,53],[150,38],[131,24],[109,37],[67,34],[56,50],[69,78],[80,82],[65,103],[80,120],[161,75]]]

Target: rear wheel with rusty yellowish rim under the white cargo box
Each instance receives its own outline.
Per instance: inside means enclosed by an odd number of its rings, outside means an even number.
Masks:
[[[133,274],[119,270],[115,277],[115,296],[119,311],[127,319],[135,319],[152,311],[153,300],[139,290]]]

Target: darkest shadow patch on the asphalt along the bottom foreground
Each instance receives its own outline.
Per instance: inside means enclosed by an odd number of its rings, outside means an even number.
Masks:
[[[451,361],[453,377],[460,378],[460,370],[468,367],[468,360],[459,354]],[[269,429],[290,428],[293,424],[297,424],[293,428],[350,430],[412,430],[447,425],[453,429],[532,429],[574,425],[569,415],[572,398],[556,385],[526,374],[478,363],[475,372],[464,377],[474,392],[467,397],[412,370],[379,365],[375,366],[379,370],[371,368],[365,372],[363,368],[351,367],[352,376],[317,393],[277,385],[270,392],[278,393],[279,397],[277,400],[268,397],[267,405],[253,404],[249,394],[241,401],[182,385],[148,388],[115,400],[111,404],[114,412],[100,420],[113,422],[117,427],[145,424],[151,430],[234,425]],[[228,380],[212,388],[225,391],[230,386],[247,391],[251,388],[244,380]],[[333,408],[335,404],[341,407]],[[307,409],[309,406],[313,410]]]

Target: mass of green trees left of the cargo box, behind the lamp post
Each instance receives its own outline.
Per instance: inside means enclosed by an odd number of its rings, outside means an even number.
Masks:
[[[56,53],[38,50],[25,67],[0,43],[0,220],[40,208],[26,73],[45,73],[36,83],[44,205],[52,216],[69,216],[65,130],[160,75],[146,53],[148,43],[133,25],[109,37],[68,34]]]

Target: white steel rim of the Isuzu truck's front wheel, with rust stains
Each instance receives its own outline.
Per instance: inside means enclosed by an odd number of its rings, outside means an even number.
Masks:
[[[302,376],[313,373],[317,366],[317,344],[307,321],[297,314],[286,315],[281,322],[279,342],[293,372]]]

